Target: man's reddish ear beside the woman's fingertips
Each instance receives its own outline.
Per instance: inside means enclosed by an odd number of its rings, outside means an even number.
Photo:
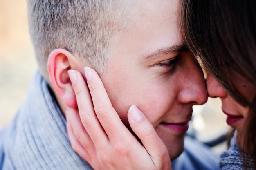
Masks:
[[[65,49],[55,49],[48,58],[49,79],[59,104],[67,107],[77,107],[76,96],[67,71],[74,63],[74,56]],[[59,101],[62,100],[62,101]]]

